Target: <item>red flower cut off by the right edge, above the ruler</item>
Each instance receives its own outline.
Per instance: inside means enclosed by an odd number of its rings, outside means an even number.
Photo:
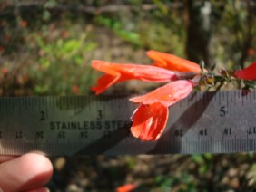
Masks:
[[[248,67],[236,71],[235,76],[242,80],[256,80],[256,62],[252,62]]]

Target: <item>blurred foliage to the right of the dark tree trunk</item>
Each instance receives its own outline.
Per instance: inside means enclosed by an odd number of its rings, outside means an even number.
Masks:
[[[216,9],[216,14],[219,21],[214,23],[217,35],[213,38],[219,43],[212,53],[218,62],[226,68],[237,69],[255,61],[255,1],[226,1],[222,8]],[[246,59],[241,61],[243,54]]]

